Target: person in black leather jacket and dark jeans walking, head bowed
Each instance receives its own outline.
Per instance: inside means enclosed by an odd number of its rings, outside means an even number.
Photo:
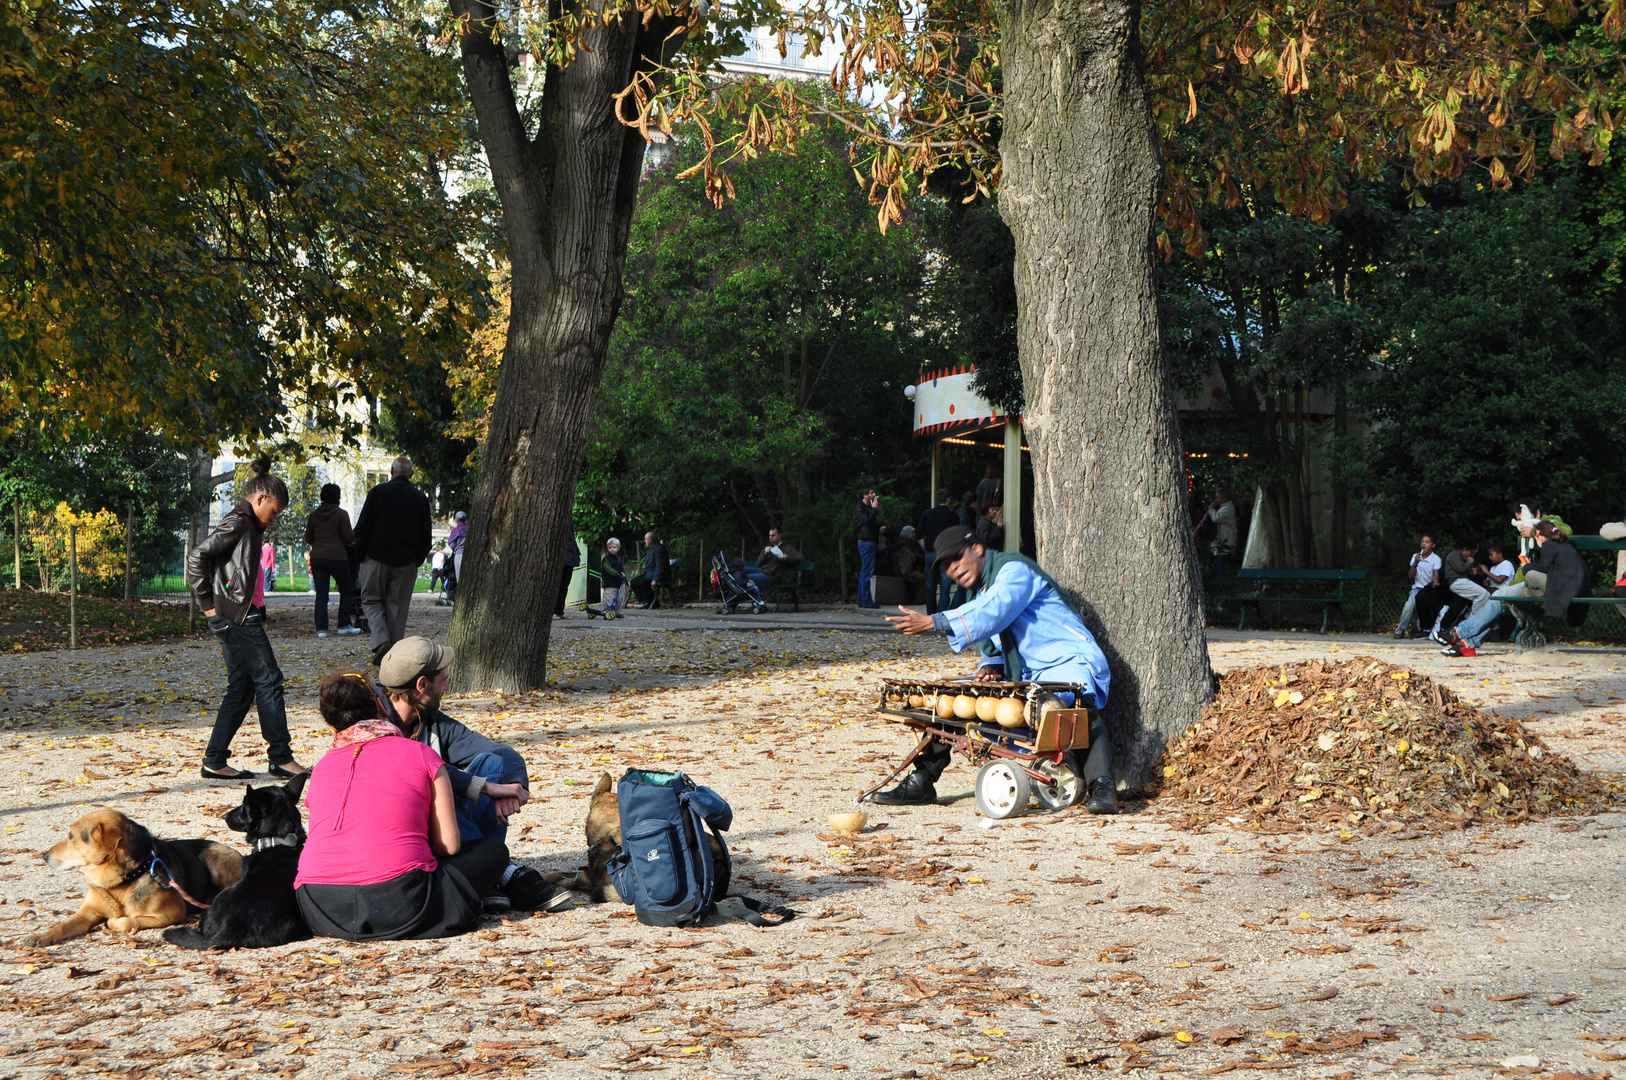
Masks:
[[[265,636],[262,535],[288,509],[288,485],[272,477],[270,467],[270,459],[254,464],[255,475],[244,486],[247,498],[233,506],[215,532],[187,555],[187,589],[208,616],[208,628],[226,657],[226,696],[203,751],[205,779],[241,781],[254,776],[226,764],[231,740],[249,716],[250,703],[260,711],[260,735],[265,737],[272,776],[293,777],[306,771],[294,761],[283,670]]]

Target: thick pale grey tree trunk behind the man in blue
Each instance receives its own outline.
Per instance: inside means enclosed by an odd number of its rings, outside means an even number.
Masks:
[[[1119,779],[1213,693],[1153,286],[1158,145],[1127,0],[1003,0],[1000,211],[1016,237],[1039,558],[1112,664]]]

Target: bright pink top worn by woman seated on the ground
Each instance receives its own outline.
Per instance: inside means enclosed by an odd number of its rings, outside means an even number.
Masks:
[[[441,755],[385,735],[328,750],[306,784],[309,839],[301,885],[376,885],[408,870],[434,870],[429,813]]]

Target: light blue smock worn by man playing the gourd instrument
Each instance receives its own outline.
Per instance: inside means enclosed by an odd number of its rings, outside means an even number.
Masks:
[[[1106,708],[1112,685],[1106,654],[1050,576],[1024,555],[990,551],[977,595],[932,621],[954,652],[980,644],[984,667],[1005,667],[1002,654],[1018,654],[1021,670],[1006,678],[1080,683],[1098,709]]]

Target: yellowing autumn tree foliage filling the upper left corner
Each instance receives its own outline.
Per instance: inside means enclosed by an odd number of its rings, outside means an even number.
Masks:
[[[0,413],[211,447],[341,425],[485,288],[455,60],[390,0],[0,15]]]

